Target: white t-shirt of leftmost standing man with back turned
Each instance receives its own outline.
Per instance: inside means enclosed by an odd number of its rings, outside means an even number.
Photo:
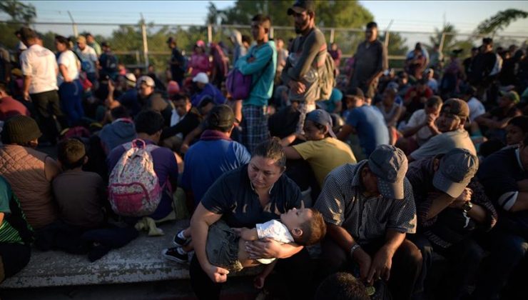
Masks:
[[[49,49],[34,44],[20,54],[22,74],[31,76],[29,94],[57,89],[57,61]]]

